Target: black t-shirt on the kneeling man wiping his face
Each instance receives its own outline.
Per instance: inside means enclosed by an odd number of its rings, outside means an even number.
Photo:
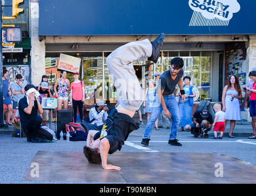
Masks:
[[[26,96],[20,99],[18,102],[18,113],[20,114],[20,122],[21,125],[24,127],[28,123],[29,119],[34,118],[34,116],[37,116],[38,112],[38,105],[36,100],[34,100],[34,106],[32,108],[31,114],[28,115],[25,113],[24,109],[28,107],[28,102],[26,100]]]

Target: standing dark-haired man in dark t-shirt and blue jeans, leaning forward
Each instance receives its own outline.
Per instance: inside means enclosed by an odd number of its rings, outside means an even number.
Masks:
[[[182,146],[182,144],[178,142],[179,140],[176,139],[177,129],[179,129],[179,107],[174,95],[174,90],[176,85],[178,85],[182,97],[180,102],[184,102],[185,91],[182,83],[182,75],[184,72],[182,69],[183,66],[184,62],[182,58],[173,58],[171,60],[171,69],[161,74],[160,84],[158,85],[158,97],[160,97],[160,104],[152,108],[150,118],[147,121],[147,126],[145,127],[144,138],[141,141],[142,145],[149,145],[153,124],[160,116],[161,112],[164,111],[165,116],[173,120],[171,125],[171,134],[169,135],[168,141],[169,145]]]

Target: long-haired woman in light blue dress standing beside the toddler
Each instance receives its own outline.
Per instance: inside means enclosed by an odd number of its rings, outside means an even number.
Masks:
[[[228,137],[234,138],[233,130],[235,129],[236,121],[241,119],[241,111],[239,99],[242,99],[242,91],[239,85],[238,77],[231,75],[228,78],[228,85],[226,85],[222,92],[222,110],[225,111],[225,127],[230,121],[230,133]]]

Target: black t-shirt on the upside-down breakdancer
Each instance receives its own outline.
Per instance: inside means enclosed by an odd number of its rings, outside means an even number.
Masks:
[[[120,151],[128,135],[137,130],[138,126],[130,116],[118,113],[115,108],[108,110],[107,113],[103,129],[95,134],[93,140],[107,138],[110,145],[109,154],[113,154],[117,150]]]

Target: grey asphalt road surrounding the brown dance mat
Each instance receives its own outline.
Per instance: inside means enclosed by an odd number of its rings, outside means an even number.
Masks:
[[[218,153],[244,160],[244,164],[256,165],[256,140],[247,137],[212,140],[194,138],[190,132],[178,132],[182,146],[168,145],[170,130],[153,130],[149,146],[141,145],[144,128],[134,130],[122,147],[122,152],[175,152],[175,153]],[[14,138],[10,132],[0,132],[0,182],[1,183],[61,183],[23,181],[26,170],[37,151],[82,151],[86,141],[55,141],[54,143],[28,143],[26,138]],[[111,155],[110,155],[111,156]],[[64,183],[64,182],[63,182]]]

